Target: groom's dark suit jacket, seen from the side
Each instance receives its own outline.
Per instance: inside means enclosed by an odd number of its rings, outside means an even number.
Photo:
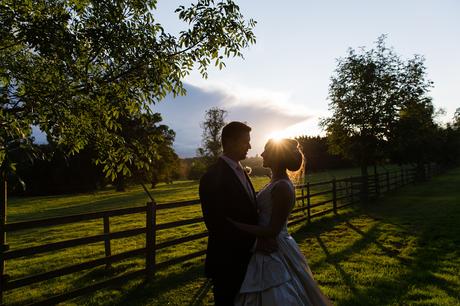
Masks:
[[[257,224],[255,202],[222,158],[201,178],[200,200],[209,231],[206,276],[242,282],[256,238],[237,229],[227,218]]]

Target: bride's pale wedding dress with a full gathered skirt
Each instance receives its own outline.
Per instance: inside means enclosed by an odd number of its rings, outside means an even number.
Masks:
[[[289,180],[279,180],[265,186],[257,195],[261,226],[267,226],[270,222],[271,191],[280,181],[288,182],[295,194]],[[235,305],[332,305],[319,290],[305,257],[289,235],[287,221],[276,240],[276,252],[269,255],[256,252],[252,255],[240,293],[235,298]]]

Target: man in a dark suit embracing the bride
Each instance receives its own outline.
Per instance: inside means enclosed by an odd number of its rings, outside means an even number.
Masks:
[[[233,305],[253,250],[273,252],[273,240],[256,239],[227,218],[257,224],[256,195],[240,161],[246,158],[251,128],[230,122],[222,130],[223,155],[200,180],[200,200],[209,231],[205,274],[212,279],[218,306]]]

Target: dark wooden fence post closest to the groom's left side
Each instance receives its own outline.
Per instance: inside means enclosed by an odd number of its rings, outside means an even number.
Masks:
[[[155,244],[156,244],[156,203],[152,201],[147,202],[146,213],[146,228],[145,235],[145,272],[147,281],[151,281],[155,276]]]

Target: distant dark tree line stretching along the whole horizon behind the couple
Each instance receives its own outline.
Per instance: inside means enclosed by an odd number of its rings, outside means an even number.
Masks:
[[[296,139],[302,146],[307,172],[357,166],[356,161],[332,154],[327,137],[300,136]],[[414,163],[415,161],[411,156],[418,151],[423,151],[419,154],[423,155],[426,162],[436,162],[446,166],[458,164],[460,158],[460,109],[457,110],[452,122],[444,127],[437,126],[430,135],[425,135],[423,139],[426,142],[423,147],[412,146],[409,140],[403,148],[394,147],[392,154],[383,162]],[[44,157],[35,159],[33,163],[29,162],[27,155],[21,151],[14,155],[17,175],[22,179],[26,188],[24,189],[18,180],[12,180],[9,188],[13,194],[65,194],[93,192],[102,188],[109,188],[108,186],[112,186],[111,188],[119,187],[117,180],[111,182],[106,177],[101,165],[94,165],[93,159],[96,153],[90,148],[72,156],[66,156],[50,144],[35,145],[35,148]],[[414,152],[405,154],[404,152],[407,150]],[[162,163],[154,165],[149,175],[136,173],[125,178],[124,186],[139,183],[141,178],[143,182],[148,182],[152,188],[160,182],[198,180],[207,169],[207,159],[203,156],[179,159],[172,151],[170,153],[170,159],[166,157],[162,159]],[[244,166],[251,168],[251,176],[270,176],[270,170],[264,168],[262,163],[263,159],[260,156],[248,157],[242,162]]]

